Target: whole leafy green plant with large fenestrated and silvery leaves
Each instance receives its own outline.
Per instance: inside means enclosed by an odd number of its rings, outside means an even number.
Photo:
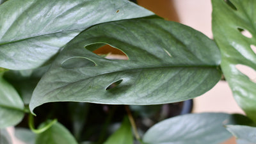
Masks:
[[[256,84],[237,69],[256,68],[256,1],[212,0],[214,40],[127,0],[0,4],[1,144],[12,143],[6,127],[15,125],[15,136],[31,144],[221,143],[232,135],[256,143]],[[127,60],[93,52],[103,45]],[[161,104],[202,95],[222,74],[246,115],[136,125]]]

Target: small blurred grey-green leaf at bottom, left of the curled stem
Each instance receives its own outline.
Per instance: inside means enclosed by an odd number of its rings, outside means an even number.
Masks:
[[[35,144],[36,134],[30,129],[15,128],[15,138],[26,144]]]

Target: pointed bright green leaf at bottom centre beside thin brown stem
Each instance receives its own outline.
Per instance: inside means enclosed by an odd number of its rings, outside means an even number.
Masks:
[[[104,144],[132,144],[132,129],[128,118],[125,118],[121,127],[113,133]]]

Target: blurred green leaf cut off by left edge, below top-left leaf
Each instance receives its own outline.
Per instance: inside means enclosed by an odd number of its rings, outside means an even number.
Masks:
[[[19,123],[24,116],[19,94],[1,75],[0,72],[0,129]]]

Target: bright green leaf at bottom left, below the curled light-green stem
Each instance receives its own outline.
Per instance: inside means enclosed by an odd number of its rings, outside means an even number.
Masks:
[[[35,144],[77,144],[72,134],[60,123],[55,123],[46,131],[36,136]]]

